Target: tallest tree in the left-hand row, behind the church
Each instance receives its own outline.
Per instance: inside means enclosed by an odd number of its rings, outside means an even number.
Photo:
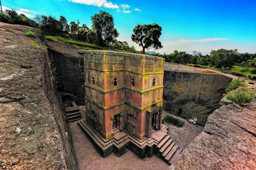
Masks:
[[[119,33],[114,28],[113,16],[105,11],[99,12],[99,14],[94,14],[91,17],[92,20],[92,30],[96,33],[98,38],[98,44],[103,45],[103,38],[111,42],[119,36]]]

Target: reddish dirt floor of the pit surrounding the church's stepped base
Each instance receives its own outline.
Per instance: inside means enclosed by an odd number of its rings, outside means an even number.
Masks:
[[[81,114],[82,116],[84,115],[83,112]],[[163,115],[171,114],[163,112]],[[185,126],[182,128],[177,128],[168,124],[165,125],[169,126],[169,134],[174,141],[179,143],[184,149],[202,131],[203,127],[197,128],[196,126],[189,124],[186,120],[182,118],[181,120],[185,122]],[[121,157],[116,156],[115,153],[111,153],[106,158],[103,158],[96,151],[88,136],[86,136],[83,130],[77,125],[77,122],[70,122],[69,126],[72,133],[78,169],[80,170],[166,170],[169,166],[156,155],[140,159],[131,150],[127,151]]]

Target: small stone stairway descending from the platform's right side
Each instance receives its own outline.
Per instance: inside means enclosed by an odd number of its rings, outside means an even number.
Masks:
[[[171,136],[166,135],[161,141],[159,141],[156,146],[156,150],[159,157],[169,164],[172,164],[183,149],[171,139]]]

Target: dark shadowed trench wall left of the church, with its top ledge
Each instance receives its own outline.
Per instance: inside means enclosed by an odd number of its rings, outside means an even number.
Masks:
[[[72,45],[47,41],[55,83],[64,106],[71,102],[84,105],[84,58],[81,49]]]

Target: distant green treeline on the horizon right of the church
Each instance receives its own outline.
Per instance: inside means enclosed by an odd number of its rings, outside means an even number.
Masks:
[[[239,53],[237,49],[218,49],[212,50],[210,55],[202,55],[201,52],[193,51],[193,54],[188,54],[185,51],[174,50],[171,54],[152,54],[165,58],[166,62],[180,64],[198,64],[210,65],[217,68],[224,67],[225,69],[232,68],[234,65],[256,67],[256,53],[250,54]]]

